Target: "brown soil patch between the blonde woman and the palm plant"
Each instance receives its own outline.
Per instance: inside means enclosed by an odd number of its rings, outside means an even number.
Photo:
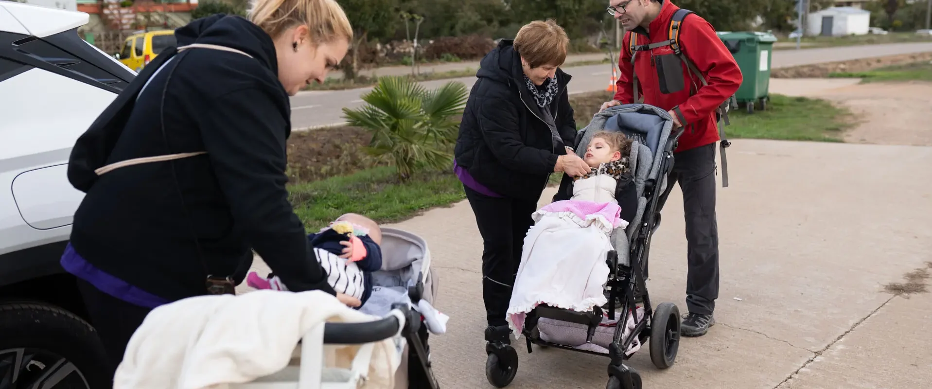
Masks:
[[[357,127],[292,132],[288,139],[288,179],[292,184],[352,174],[386,165],[365,151],[372,134]]]

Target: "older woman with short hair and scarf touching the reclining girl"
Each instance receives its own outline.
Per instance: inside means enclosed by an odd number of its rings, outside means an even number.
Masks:
[[[555,21],[532,21],[514,41],[502,40],[482,60],[459,125],[454,169],[484,241],[489,341],[508,341],[505,312],[514,274],[548,177],[589,172],[568,152],[576,120],[567,92],[570,76],[558,68],[568,45]]]

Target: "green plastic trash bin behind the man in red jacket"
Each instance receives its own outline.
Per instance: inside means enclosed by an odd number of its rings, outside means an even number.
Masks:
[[[738,104],[746,104],[749,114],[754,113],[755,103],[760,104],[761,110],[766,109],[776,36],[759,32],[720,32],[719,37],[732,52],[744,76],[741,87],[734,93],[735,100]]]

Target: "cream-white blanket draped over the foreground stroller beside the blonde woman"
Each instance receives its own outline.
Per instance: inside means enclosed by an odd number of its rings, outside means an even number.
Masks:
[[[376,319],[322,291],[258,290],[178,300],[145,317],[117,368],[114,388],[221,389],[252,382],[285,368],[313,326]],[[400,362],[394,347],[391,339],[376,344],[365,387],[393,386]]]

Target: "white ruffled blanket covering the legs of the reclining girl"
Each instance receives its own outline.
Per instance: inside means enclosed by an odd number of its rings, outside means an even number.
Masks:
[[[610,228],[572,212],[541,210],[533,217],[506,315],[517,338],[525,315],[539,304],[588,312],[608,302],[602,286],[609,279]]]

